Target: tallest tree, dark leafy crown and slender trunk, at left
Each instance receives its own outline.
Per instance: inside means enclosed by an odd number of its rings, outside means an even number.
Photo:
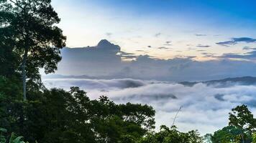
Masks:
[[[23,96],[26,81],[40,79],[39,69],[55,71],[61,60],[60,49],[65,46],[63,31],[55,26],[60,22],[50,0],[0,0],[0,33],[21,56]]]

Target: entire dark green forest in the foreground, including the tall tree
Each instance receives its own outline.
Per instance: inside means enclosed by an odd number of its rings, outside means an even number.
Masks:
[[[78,87],[46,89],[66,37],[50,0],[0,0],[0,142],[229,143],[256,142],[256,119],[246,105],[229,113],[214,134],[155,130],[155,110],[143,104],[91,100]]]

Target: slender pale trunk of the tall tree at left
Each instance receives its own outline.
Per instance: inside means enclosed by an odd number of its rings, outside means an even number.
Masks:
[[[22,59],[22,84],[23,84],[23,100],[27,100],[27,83],[26,83],[26,64],[27,64],[27,53],[28,48],[25,48],[23,59]]]

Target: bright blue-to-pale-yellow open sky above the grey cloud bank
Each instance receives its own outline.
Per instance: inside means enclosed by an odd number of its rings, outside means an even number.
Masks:
[[[256,47],[255,0],[52,0],[52,5],[69,47],[108,39],[126,52],[197,60]],[[242,37],[251,40],[232,39]],[[216,44],[225,41],[234,43]]]

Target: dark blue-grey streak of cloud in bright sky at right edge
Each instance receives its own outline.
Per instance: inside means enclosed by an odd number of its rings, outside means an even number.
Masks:
[[[231,41],[221,41],[216,44],[219,44],[221,46],[230,46],[237,44],[239,42],[246,42],[246,43],[253,43],[256,39],[250,38],[250,37],[240,37],[240,38],[232,38]]]

